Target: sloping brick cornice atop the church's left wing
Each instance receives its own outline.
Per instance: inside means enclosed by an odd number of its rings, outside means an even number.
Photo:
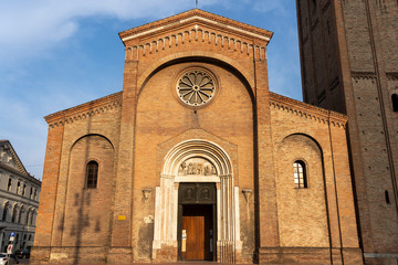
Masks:
[[[51,114],[44,117],[45,121],[50,127],[63,126],[64,124],[105,113],[109,109],[122,106],[122,94],[123,92],[118,92],[72,108]]]

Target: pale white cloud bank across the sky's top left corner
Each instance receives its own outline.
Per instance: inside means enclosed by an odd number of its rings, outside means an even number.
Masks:
[[[211,4],[212,0],[203,1]],[[81,19],[156,19],[195,7],[187,0],[21,0],[0,1],[0,64],[38,56],[78,30]]]

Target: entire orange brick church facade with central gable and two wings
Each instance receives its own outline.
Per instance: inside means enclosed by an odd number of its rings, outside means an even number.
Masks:
[[[347,117],[271,93],[272,32],[122,32],[123,91],[45,117],[40,263],[362,264]]]

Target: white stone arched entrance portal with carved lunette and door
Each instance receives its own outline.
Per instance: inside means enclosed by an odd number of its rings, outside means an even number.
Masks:
[[[233,263],[241,251],[238,194],[231,161],[221,147],[195,139],[171,148],[164,160],[160,187],[156,187],[153,258],[161,261],[167,255],[169,261]],[[198,239],[203,240],[205,252],[197,256],[187,253],[187,243],[192,243],[187,242],[192,233],[184,229],[187,225],[202,227],[209,235]]]

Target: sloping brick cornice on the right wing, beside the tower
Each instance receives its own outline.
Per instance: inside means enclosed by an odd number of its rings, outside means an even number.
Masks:
[[[285,96],[270,92],[270,105],[274,108],[287,110],[293,115],[313,119],[318,123],[331,124],[345,128],[348,117],[346,115],[315,107]]]

